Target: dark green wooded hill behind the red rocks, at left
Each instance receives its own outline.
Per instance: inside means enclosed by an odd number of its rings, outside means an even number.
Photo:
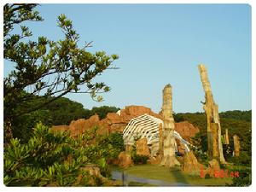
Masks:
[[[43,96],[34,96],[32,102],[27,103],[27,108],[32,105],[45,103]],[[33,111],[32,113],[25,113],[18,117],[13,123],[14,137],[20,138],[21,142],[26,142],[30,137],[32,128],[38,122],[42,122],[49,127],[52,125],[69,125],[71,121],[77,119],[88,119],[94,114],[98,114],[100,119],[104,119],[108,113],[116,113],[119,108],[111,106],[94,107],[86,109],[79,102],[73,102],[66,97],[61,97],[45,105],[43,108]]]

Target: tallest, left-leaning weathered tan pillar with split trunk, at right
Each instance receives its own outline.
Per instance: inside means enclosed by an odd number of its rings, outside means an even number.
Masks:
[[[207,68],[204,65],[198,66],[201,82],[205,91],[203,108],[207,115],[207,143],[208,155],[210,158],[218,158],[220,162],[225,163],[223,147],[221,143],[221,127],[218,117],[218,105],[214,102],[212,96],[211,84],[207,75]]]

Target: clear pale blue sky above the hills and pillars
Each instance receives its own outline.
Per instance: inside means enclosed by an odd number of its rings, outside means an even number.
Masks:
[[[41,4],[43,22],[29,26],[35,37],[62,38],[58,15],[73,20],[79,44],[91,52],[118,54],[96,80],[112,88],[104,102],[84,94],[66,97],[84,108],[143,105],[160,111],[162,89],[172,84],[174,112],[202,111],[197,65],[207,66],[219,111],[252,108],[251,7],[247,4]],[[6,62],[6,64],[8,64]],[[5,66],[5,76],[11,68]]]

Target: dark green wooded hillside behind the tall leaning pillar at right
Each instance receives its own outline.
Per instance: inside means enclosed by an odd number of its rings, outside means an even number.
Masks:
[[[230,149],[233,150],[233,136],[240,137],[241,155],[239,158],[231,154],[224,154],[226,159],[237,164],[251,165],[252,157],[252,110],[250,111],[227,111],[219,113],[222,134],[225,129],[229,131]],[[203,151],[207,151],[207,119],[205,113],[174,113],[176,122],[187,120],[200,129],[196,135],[197,144]]]

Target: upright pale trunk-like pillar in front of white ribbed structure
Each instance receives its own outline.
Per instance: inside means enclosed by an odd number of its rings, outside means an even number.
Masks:
[[[179,166],[180,163],[175,157],[175,138],[174,133],[174,119],[172,117],[172,86],[166,84],[163,90],[163,157],[161,160],[162,166],[172,167]]]

